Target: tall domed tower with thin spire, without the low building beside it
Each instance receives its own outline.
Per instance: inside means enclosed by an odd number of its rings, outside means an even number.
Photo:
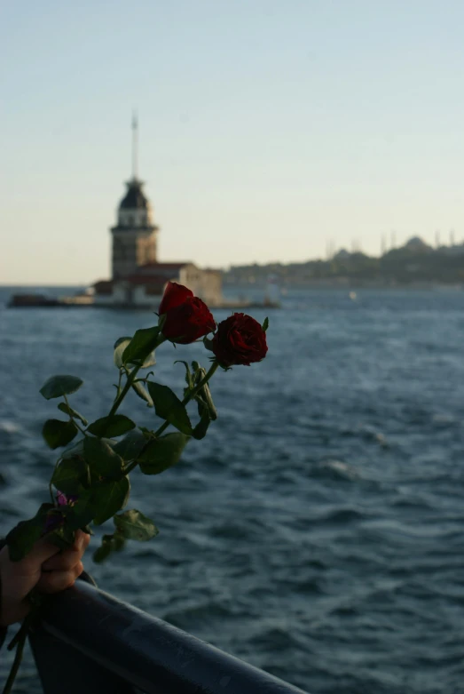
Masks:
[[[158,227],[153,224],[152,207],[138,179],[138,119],[132,117],[132,178],[117,211],[113,235],[112,276],[122,279],[133,275],[138,267],[156,262]]]

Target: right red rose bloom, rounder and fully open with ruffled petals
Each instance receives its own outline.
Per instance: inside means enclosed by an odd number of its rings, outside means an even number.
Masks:
[[[232,314],[217,326],[211,349],[221,366],[249,366],[265,357],[266,333],[250,315]]]

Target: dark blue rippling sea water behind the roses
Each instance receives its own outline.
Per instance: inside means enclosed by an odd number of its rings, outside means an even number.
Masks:
[[[88,568],[313,694],[464,692],[464,293],[301,291],[270,318],[266,361],[216,375],[208,437],[134,475],[159,537]],[[76,409],[103,415],[114,339],[150,324],[0,308],[0,531],[47,496],[44,379],[82,376]],[[157,378],[180,389],[185,355],[203,357],[160,350]],[[136,398],[122,411],[152,421]]]

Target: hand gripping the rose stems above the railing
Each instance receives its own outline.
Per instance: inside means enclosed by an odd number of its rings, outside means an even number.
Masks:
[[[20,562],[12,562],[8,547],[0,551],[0,626],[25,618],[30,610],[26,596],[36,586],[42,593],[59,593],[73,586],[83,572],[83,553],[90,535],[77,530],[75,543],[59,552],[57,546],[41,539]]]

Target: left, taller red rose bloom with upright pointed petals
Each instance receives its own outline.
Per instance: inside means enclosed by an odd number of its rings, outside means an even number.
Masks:
[[[168,283],[159,313],[164,315],[164,337],[181,345],[188,345],[216,328],[207,305],[193,296],[193,291],[175,282]]]

